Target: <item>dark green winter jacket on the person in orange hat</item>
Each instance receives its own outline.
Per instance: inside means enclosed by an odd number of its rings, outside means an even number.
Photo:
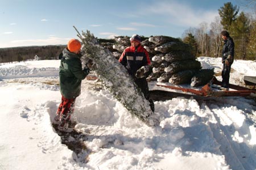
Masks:
[[[86,74],[82,70],[82,63],[75,53],[63,50],[63,58],[60,62],[60,92],[66,99],[75,99],[81,94],[81,82]]]

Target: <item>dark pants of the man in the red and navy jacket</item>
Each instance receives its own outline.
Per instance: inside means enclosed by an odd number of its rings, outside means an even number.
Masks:
[[[150,92],[148,90],[148,84],[147,84],[146,78],[145,77],[141,79],[135,78],[134,81],[137,84],[137,86],[141,88],[141,91],[143,92],[145,99],[147,99],[150,103],[151,111],[154,112],[155,104],[154,104],[154,101],[150,98]]]

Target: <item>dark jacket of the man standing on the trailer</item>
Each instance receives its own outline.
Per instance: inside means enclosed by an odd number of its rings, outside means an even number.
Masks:
[[[233,61],[234,61],[234,41],[231,37],[228,37],[228,39],[224,41],[224,46],[222,49],[222,62],[224,62],[226,60],[226,58],[228,58],[229,55],[231,56],[231,58],[229,58],[229,62],[233,63]]]

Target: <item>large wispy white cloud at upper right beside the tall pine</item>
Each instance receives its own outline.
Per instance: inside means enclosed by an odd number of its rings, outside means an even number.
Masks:
[[[210,23],[218,15],[218,11],[194,10],[179,2],[157,2],[145,7],[146,14],[158,14],[159,18],[167,18],[167,22],[185,27],[197,27],[202,22]]]

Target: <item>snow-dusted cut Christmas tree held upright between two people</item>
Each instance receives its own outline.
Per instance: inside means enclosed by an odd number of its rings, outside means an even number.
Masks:
[[[113,53],[100,46],[96,37],[89,31],[82,32],[82,35],[79,31],[77,33],[83,44],[82,53],[86,60],[89,58],[96,65],[95,71],[104,81],[104,86],[131,114],[148,126],[158,126],[159,121],[151,111],[150,103]]]

